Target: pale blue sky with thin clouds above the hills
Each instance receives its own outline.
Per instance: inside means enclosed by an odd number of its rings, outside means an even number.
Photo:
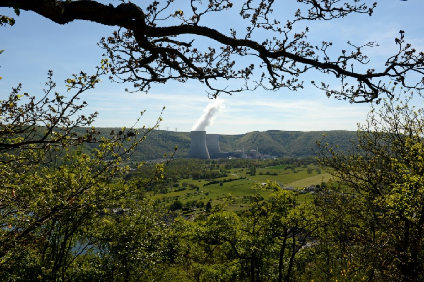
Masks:
[[[139,0],[134,0],[139,3]],[[362,1],[371,5],[374,1]],[[118,4],[118,1],[112,2]],[[176,0],[174,5],[178,9]],[[284,4],[281,4],[284,3]],[[295,0],[280,2],[274,8],[282,22],[298,8]],[[370,57],[370,66],[381,70],[385,59],[396,51],[394,39],[399,30],[406,32],[406,41],[417,50],[424,50],[422,24],[422,0],[380,0],[372,17],[351,15],[344,19],[327,22],[304,22],[299,28],[308,26],[308,40],[318,43],[332,41],[332,52],[339,54],[346,49],[347,41],[362,45],[376,41],[379,47],[365,51]],[[14,16],[13,10],[0,8],[0,14]],[[219,20],[214,17],[219,17]],[[241,21],[234,17],[214,16],[206,20],[205,25],[217,28],[228,34],[234,27],[243,31]],[[75,21],[61,26],[35,13],[21,11],[13,27],[0,28],[0,99],[7,97],[11,87],[22,83],[23,90],[32,95],[41,95],[47,78],[47,71],[53,70],[53,79],[57,82],[57,91],[66,95],[64,80],[80,70],[94,72],[102,59],[103,50],[97,46],[101,37],[109,36],[113,27],[105,27],[91,22]],[[201,40],[201,39],[196,39]],[[241,59],[243,60],[243,58]],[[242,61],[243,62],[243,61]],[[271,129],[288,131],[318,130],[356,130],[357,123],[363,123],[369,104],[351,105],[346,101],[328,99],[324,93],[310,84],[311,80],[321,81],[338,87],[338,81],[317,73],[308,73],[301,77],[305,81],[304,89],[291,92],[281,89],[267,92],[257,89],[254,92],[242,92],[232,96],[221,95],[225,110],[216,117],[213,125],[207,128],[209,133],[242,134],[249,131]],[[165,85],[153,85],[145,93],[126,93],[122,84],[111,83],[106,77],[83,99],[89,103],[85,113],[98,111],[100,114],[94,123],[97,127],[131,126],[146,110],[139,122],[152,126],[163,106],[163,122],[160,129],[171,131],[190,131],[193,124],[202,115],[211,101],[206,88],[197,81],[186,83],[171,82]],[[421,104],[418,99],[416,103]]]

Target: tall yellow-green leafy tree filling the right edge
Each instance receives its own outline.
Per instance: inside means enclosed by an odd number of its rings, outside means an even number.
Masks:
[[[367,281],[424,279],[424,110],[408,100],[385,100],[373,109],[347,154],[321,142],[332,189],[346,185],[354,192],[329,194],[321,203],[327,214],[337,214],[335,260],[353,260],[350,267]]]

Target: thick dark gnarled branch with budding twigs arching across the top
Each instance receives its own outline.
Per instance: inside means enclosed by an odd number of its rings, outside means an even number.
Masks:
[[[250,77],[251,69],[234,69],[232,57],[253,55],[260,58],[263,66],[266,67],[268,75],[262,75],[262,79],[256,83],[253,88],[262,86],[265,89],[276,90],[287,87],[292,90],[303,87],[303,81],[298,81],[298,75],[308,70],[316,69],[326,74],[334,74],[342,81],[340,91],[330,89],[328,85],[322,83],[312,84],[326,92],[327,96],[335,96],[339,99],[348,99],[351,102],[368,102],[377,99],[382,94],[391,95],[391,90],[387,87],[385,80],[394,80],[401,83],[407,89],[423,89],[423,81],[417,84],[409,85],[406,83],[407,73],[424,73],[424,53],[414,54],[415,50],[409,44],[404,44],[404,33],[401,31],[400,39],[396,39],[399,45],[399,53],[389,58],[385,63],[385,68],[376,72],[368,70],[365,73],[357,73],[353,69],[348,70],[348,62],[356,61],[366,64],[367,57],[363,55],[363,47],[373,47],[374,43],[369,43],[361,47],[355,47],[357,50],[350,55],[345,50],[338,59],[330,60],[326,54],[326,48],[331,42],[322,47],[310,45],[305,41],[306,31],[293,34],[294,40],[288,40],[288,33],[292,31],[293,24],[300,20],[331,20],[338,17],[345,17],[350,13],[366,13],[371,15],[375,3],[371,8],[365,5],[357,5],[357,1],[343,6],[336,6],[338,1],[317,1],[301,0],[304,4],[310,6],[308,15],[301,16],[301,11],[296,11],[296,20],[287,22],[284,27],[279,26],[279,21],[272,21],[271,6],[274,1],[269,1],[268,5],[253,7],[251,1],[246,2],[240,11],[243,19],[249,19],[252,26],[248,27],[248,33],[237,38],[234,31],[230,36],[221,33],[213,28],[201,26],[200,16],[205,13],[219,12],[232,8],[233,4],[228,1],[218,1],[213,6],[207,6],[204,11],[198,10],[200,7],[194,7],[192,3],[191,18],[185,18],[184,11],[178,10],[175,13],[165,14],[162,21],[169,17],[181,20],[181,25],[161,26],[157,25],[158,15],[166,13],[169,8],[167,3],[160,8],[159,2],[153,2],[145,10],[134,3],[122,3],[116,7],[112,5],[103,5],[93,0],[61,1],[61,0],[0,0],[0,6],[17,8],[27,11],[34,11],[37,14],[46,17],[53,22],[61,25],[72,22],[73,20],[87,20],[97,22],[101,25],[118,26],[125,28],[128,34],[120,34],[101,42],[101,46],[107,51],[109,58],[112,59],[112,73],[116,75],[115,81],[134,82],[134,87],[142,91],[147,91],[151,83],[164,83],[168,79],[178,79],[186,81],[187,79],[198,79],[204,82],[205,79],[243,79],[245,85],[252,83]],[[95,12],[93,12],[95,11]],[[249,13],[248,13],[249,12]],[[250,13],[251,12],[251,13]],[[259,22],[261,20],[261,22]],[[282,36],[283,40],[268,39],[259,43],[252,38],[254,29],[264,28],[271,30]],[[192,47],[192,42],[170,39],[181,35],[201,36],[212,39],[223,47],[222,53],[216,53],[215,48],[209,47],[209,51],[200,52]],[[194,37],[195,38],[195,37]],[[135,39],[135,40],[134,40]],[[324,54],[323,59],[319,59],[315,54],[316,50]],[[124,53],[125,58],[117,54]],[[140,57],[140,54],[142,55]],[[206,64],[206,66],[204,66]],[[301,64],[302,67],[297,67]],[[140,75],[139,72],[142,74]],[[119,75],[130,74],[129,77],[120,77]],[[294,78],[284,80],[284,74]],[[147,76],[146,76],[147,75]],[[351,78],[358,81],[357,85],[346,84],[346,79]],[[270,86],[265,86],[267,82]],[[249,86],[240,87],[236,90],[216,89],[210,84],[206,84],[215,93],[220,92],[232,94],[234,92],[249,90]]]

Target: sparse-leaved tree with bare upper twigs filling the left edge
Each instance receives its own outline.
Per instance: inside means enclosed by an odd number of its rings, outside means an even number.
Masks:
[[[96,113],[78,115],[86,106],[78,100],[94,88],[108,66],[103,60],[94,75],[81,72],[67,79],[68,92],[74,93],[70,99],[51,94],[56,84],[50,72],[41,99],[20,95],[19,86],[0,101],[1,276],[23,281],[67,279],[89,248],[78,242],[98,221],[99,212],[119,206],[123,197],[142,190],[162,173],[163,165],[158,165],[150,179],[121,180],[129,170],[123,160],[151,128],[141,137],[134,128],[122,128],[108,139],[98,137],[95,128],[84,135],[73,131],[95,118]],[[90,142],[98,147],[83,152],[81,145]],[[131,145],[123,148],[125,142]]]

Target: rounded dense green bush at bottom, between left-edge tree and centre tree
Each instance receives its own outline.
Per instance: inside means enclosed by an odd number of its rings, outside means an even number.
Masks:
[[[85,263],[98,271],[98,281],[159,280],[162,264],[174,259],[178,233],[168,228],[165,211],[153,201],[126,201],[125,206],[126,211],[100,218],[87,232],[95,253]]]

